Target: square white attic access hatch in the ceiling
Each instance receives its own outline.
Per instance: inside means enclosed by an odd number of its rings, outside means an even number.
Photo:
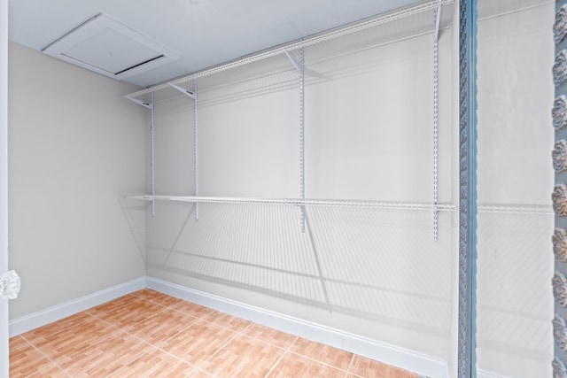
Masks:
[[[116,80],[180,58],[102,13],[50,43],[42,52]]]

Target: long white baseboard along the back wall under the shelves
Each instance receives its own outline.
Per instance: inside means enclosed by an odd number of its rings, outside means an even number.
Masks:
[[[387,343],[380,343],[362,336],[324,327],[306,320],[300,320],[259,307],[245,305],[223,297],[216,297],[202,291],[188,289],[174,283],[146,277],[147,287],[161,293],[205,305],[221,312],[260,323],[270,328],[325,343],[355,354],[377,359],[392,366],[416,372],[422,376],[442,378],[449,376],[447,361],[434,359],[416,351],[409,351]]]

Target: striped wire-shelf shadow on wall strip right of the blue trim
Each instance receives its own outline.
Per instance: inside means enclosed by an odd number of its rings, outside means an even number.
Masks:
[[[553,359],[553,266],[541,253],[552,251],[554,215],[541,207],[478,213],[477,339],[484,359],[496,353],[542,364]]]

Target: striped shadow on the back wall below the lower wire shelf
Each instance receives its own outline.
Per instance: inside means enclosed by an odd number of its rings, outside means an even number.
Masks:
[[[200,203],[198,220],[195,204],[158,205],[177,224],[149,242],[148,267],[449,336],[456,212],[439,212],[434,242],[431,211],[307,205],[302,228],[299,205]]]

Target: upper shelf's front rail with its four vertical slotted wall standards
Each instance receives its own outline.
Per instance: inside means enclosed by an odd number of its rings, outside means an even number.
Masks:
[[[305,124],[304,124],[304,87],[305,78],[308,77],[322,76],[320,73],[310,70],[305,64],[304,48],[328,42],[330,40],[338,39],[346,35],[352,35],[356,33],[361,33],[364,30],[378,27],[381,25],[392,23],[392,27],[395,27],[394,22],[400,19],[405,19],[408,17],[417,17],[419,14],[424,15],[423,25],[427,26],[423,30],[423,33],[431,33],[433,38],[433,79],[432,79],[432,106],[433,106],[433,198],[432,198],[432,214],[433,214],[433,239],[438,240],[439,234],[439,30],[443,28],[445,20],[441,19],[441,9],[445,5],[454,4],[454,0],[423,0],[417,4],[400,8],[392,12],[387,12],[377,17],[363,19],[359,22],[347,25],[345,27],[338,27],[327,32],[323,32],[317,35],[307,36],[297,41],[285,43],[280,46],[276,46],[272,49],[263,50],[258,53],[252,54],[250,56],[245,56],[243,58],[238,58],[234,61],[221,64],[219,66],[213,66],[206,68],[204,70],[198,71],[196,73],[190,73],[180,78],[176,78],[171,81],[166,81],[153,85],[147,89],[139,90],[135,93],[128,94],[126,97],[128,100],[140,104],[151,111],[151,196],[155,197],[155,181],[154,181],[154,147],[153,147],[153,106],[156,101],[164,101],[168,98],[173,98],[173,94],[178,94],[181,92],[184,96],[189,96],[194,100],[194,179],[195,179],[195,198],[198,198],[198,104],[197,104],[197,86],[198,78],[204,78],[206,76],[219,74],[231,69],[235,69],[240,66],[246,66],[254,62],[260,62],[265,60],[268,62],[268,58],[273,58],[278,55],[284,55],[291,61],[291,65],[299,73],[299,200],[305,202]],[[445,12],[444,12],[445,13]],[[433,23],[431,25],[430,15],[433,15]],[[449,13],[445,13],[449,14]],[[419,33],[422,33],[421,31]],[[183,88],[183,83],[188,83],[192,81],[194,89]],[[216,83],[216,84],[215,84]],[[206,81],[206,83],[201,83],[200,91],[206,91],[214,88],[214,85],[219,85],[218,81]],[[169,90],[168,90],[169,89]],[[171,90],[174,89],[174,90]],[[154,94],[158,92],[159,97],[154,99]],[[151,95],[151,100],[149,101],[149,95]],[[175,95],[174,95],[175,96]],[[178,95],[179,96],[179,95]],[[154,215],[154,204],[152,201],[151,206],[152,215]],[[304,207],[300,208],[300,224],[303,232],[306,231],[306,211]],[[198,220],[198,201],[195,201],[195,219]]]

